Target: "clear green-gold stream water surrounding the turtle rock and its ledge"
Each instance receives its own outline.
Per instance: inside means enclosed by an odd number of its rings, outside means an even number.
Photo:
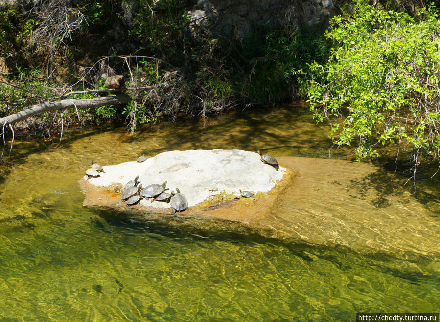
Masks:
[[[305,111],[280,108],[163,123],[134,137],[116,128],[70,132],[59,146],[17,142],[16,159],[1,168],[0,321],[355,321],[356,312],[439,312],[440,256],[402,260],[196,232],[82,206],[77,181],[90,159],[105,165],[214,148],[328,157],[327,134]],[[438,186],[429,189],[439,195]],[[437,204],[434,197],[425,203]]]

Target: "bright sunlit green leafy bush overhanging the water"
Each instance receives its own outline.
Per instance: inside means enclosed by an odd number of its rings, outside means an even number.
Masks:
[[[413,19],[376,10],[365,0],[352,16],[333,19],[326,34],[331,56],[311,65],[308,95],[318,121],[338,118],[332,123],[337,145],[357,142],[362,159],[377,156],[380,146],[404,143],[414,151],[415,168],[423,152],[438,158],[438,19],[433,7]]]

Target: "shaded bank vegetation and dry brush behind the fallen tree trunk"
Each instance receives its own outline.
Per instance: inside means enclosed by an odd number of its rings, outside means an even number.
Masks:
[[[205,117],[305,95],[304,78],[291,71],[325,59],[323,38],[290,26],[227,38],[189,20],[193,2],[47,0],[25,12],[2,8],[10,74],[0,83],[0,117],[60,93],[103,88],[111,74],[124,74],[127,86],[162,86],[131,92],[126,106],[46,113],[20,126],[52,128],[62,115],[69,124],[125,120],[133,131],[161,116]]]

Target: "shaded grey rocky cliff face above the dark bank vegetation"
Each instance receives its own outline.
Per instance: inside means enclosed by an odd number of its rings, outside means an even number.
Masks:
[[[322,32],[336,14],[332,0],[199,0],[188,11],[193,24],[234,38],[249,35],[254,27],[293,25]]]

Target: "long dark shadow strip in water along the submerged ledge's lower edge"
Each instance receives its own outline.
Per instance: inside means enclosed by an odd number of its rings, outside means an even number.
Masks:
[[[382,251],[360,252],[344,245],[328,247],[313,245],[304,242],[287,242],[275,238],[268,238],[256,233],[254,230],[246,230],[241,233],[231,230],[216,231],[213,229],[195,229],[191,227],[170,226],[158,221],[139,221],[117,212],[97,211],[102,220],[93,220],[93,225],[104,233],[123,232],[127,236],[148,235],[148,238],[162,241],[172,238],[175,241],[220,241],[232,244],[268,245],[276,248],[287,249],[293,256],[305,262],[324,260],[331,263],[335,269],[351,271],[354,266],[360,266],[366,270],[376,271],[383,275],[390,275],[405,280],[413,285],[422,282],[433,282],[440,285],[440,272],[438,274],[421,272],[414,267],[425,267],[440,258],[425,256],[422,254],[407,254],[407,259],[402,259],[390,253]],[[409,265],[408,265],[409,263]],[[411,266],[413,265],[413,266]]]

